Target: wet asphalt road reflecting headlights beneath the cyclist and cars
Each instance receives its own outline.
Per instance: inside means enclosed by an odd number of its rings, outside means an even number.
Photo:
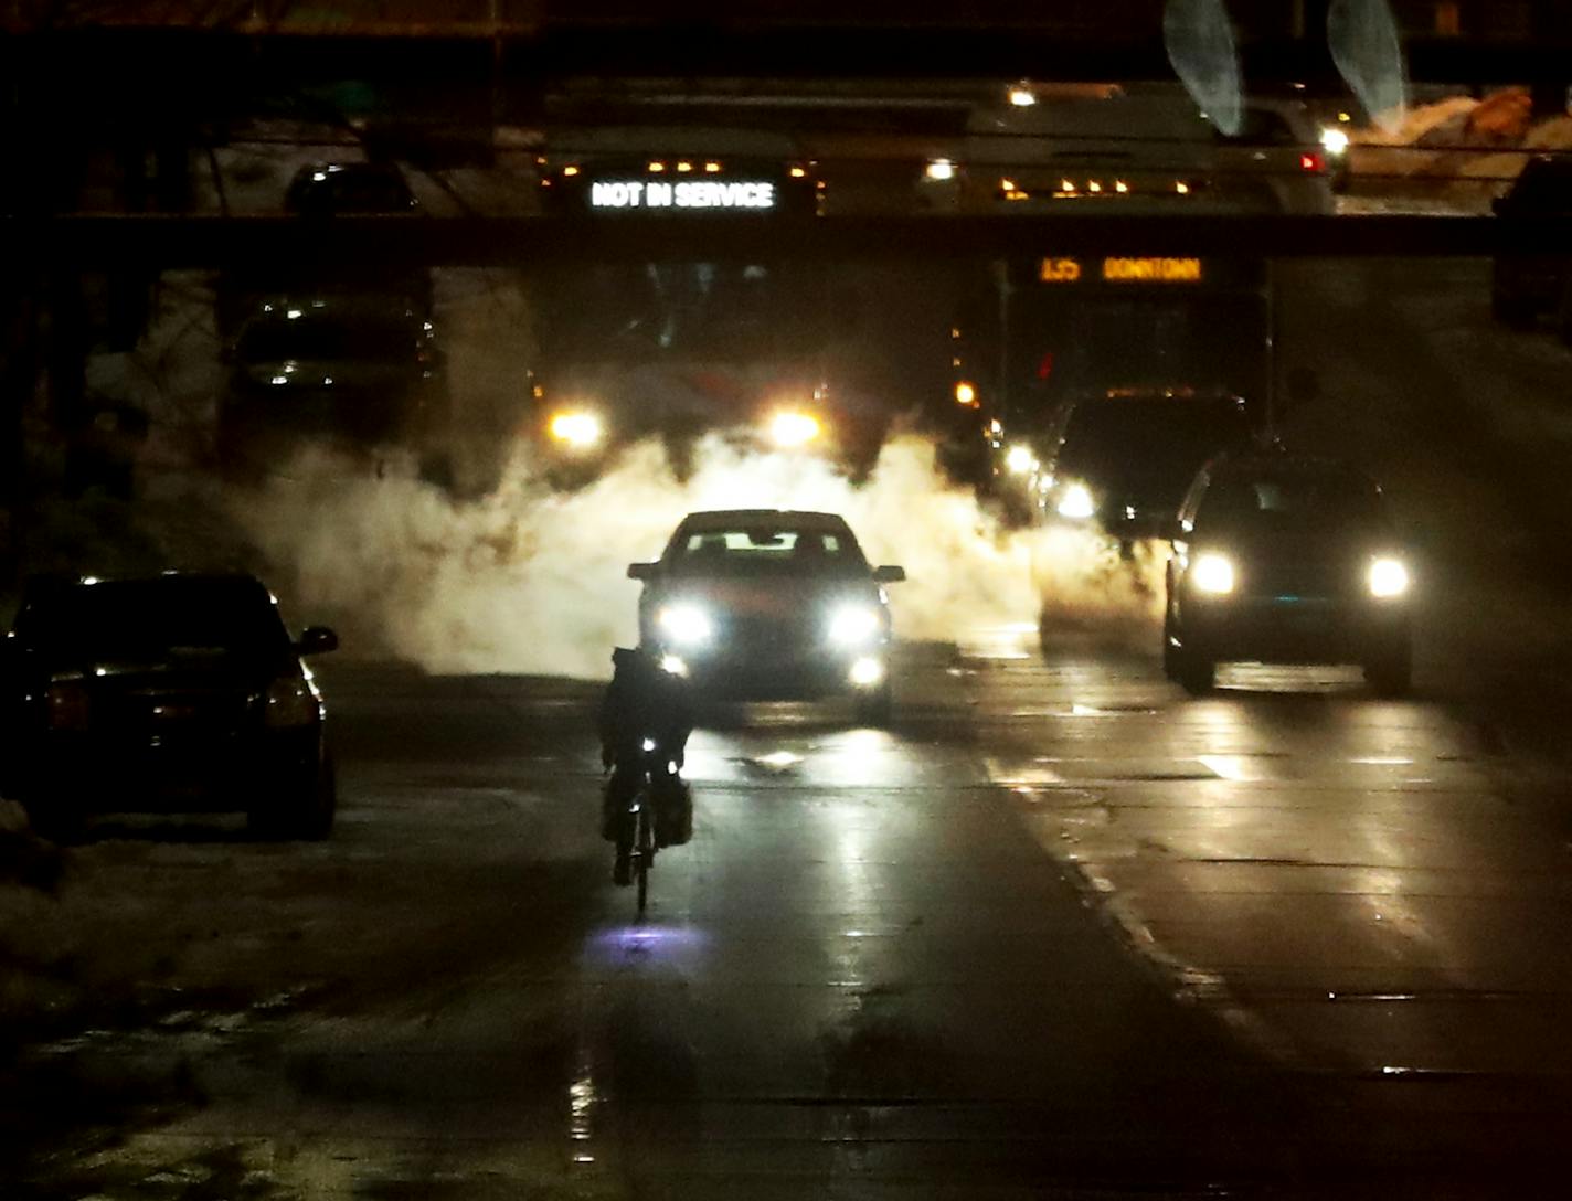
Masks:
[[[74,852],[41,920],[135,984],[9,1072],[6,1196],[1544,1182],[1556,770],[1287,674],[1195,701],[1078,635],[907,648],[890,731],[695,736],[637,923],[593,689],[335,663],[330,843],[110,819]]]

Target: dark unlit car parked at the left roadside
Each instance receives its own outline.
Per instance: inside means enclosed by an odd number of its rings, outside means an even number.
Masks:
[[[91,813],[244,811],[327,838],[336,810],[322,695],[266,585],[245,574],[35,578],[0,643],[3,784],[41,833]]]

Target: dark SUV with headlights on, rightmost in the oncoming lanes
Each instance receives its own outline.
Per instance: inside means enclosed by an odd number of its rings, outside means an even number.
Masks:
[[[1409,690],[1409,566],[1380,487],[1353,467],[1225,456],[1170,539],[1163,673],[1187,692],[1207,692],[1223,660],[1355,662],[1377,692]]]

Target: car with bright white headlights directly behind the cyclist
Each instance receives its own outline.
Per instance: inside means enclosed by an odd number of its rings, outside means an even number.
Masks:
[[[890,600],[901,567],[869,567],[832,512],[729,509],[682,519],[645,582],[646,649],[700,698],[850,696],[871,725],[890,718]]]

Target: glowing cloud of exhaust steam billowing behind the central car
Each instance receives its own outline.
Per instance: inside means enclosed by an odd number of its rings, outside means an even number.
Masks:
[[[937,470],[934,446],[891,439],[863,484],[802,454],[707,439],[685,481],[657,442],[629,448],[599,479],[553,492],[523,448],[503,483],[454,500],[413,470],[346,475],[308,450],[234,519],[280,591],[346,645],[437,673],[604,678],[610,649],[637,640],[632,561],[656,558],[695,509],[802,508],[843,514],[871,561],[899,563],[896,634],[962,641],[989,626],[1102,624],[1154,645],[1152,555],[1121,560],[1089,533],[1005,530]]]

